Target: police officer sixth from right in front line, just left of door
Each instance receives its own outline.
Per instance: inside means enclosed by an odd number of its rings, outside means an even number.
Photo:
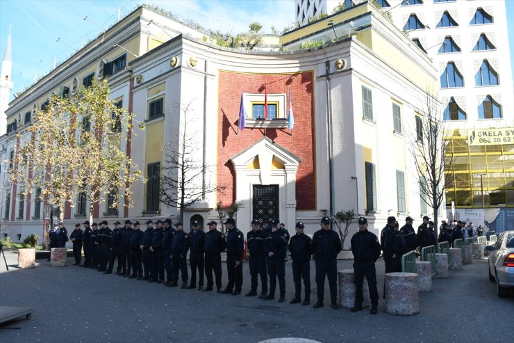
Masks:
[[[226,232],[226,273],[229,276],[229,283],[226,284],[225,289],[221,293],[231,293],[236,296],[241,294],[242,287],[244,237],[242,232],[235,227],[234,218],[227,218],[225,226],[226,230],[228,230]]]

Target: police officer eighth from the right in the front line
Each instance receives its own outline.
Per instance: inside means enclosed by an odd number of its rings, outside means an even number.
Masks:
[[[191,265],[191,281],[188,289],[197,288],[199,291],[204,289],[204,244],[205,232],[199,230],[200,223],[192,222],[191,233],[188,234],[188,248],[190,251],[189,262]],[[197,269],[198,269],[198,287],[197,287]]]

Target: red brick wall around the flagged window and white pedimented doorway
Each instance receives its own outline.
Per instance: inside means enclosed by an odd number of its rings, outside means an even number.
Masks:
[[[247,147],[260,141],[264,129],[238,131],[241,90],[243,93],[261,93],[264,85],[267,94],[289,94],[295,127],[289,129],[267,129],[266,136],[285,149],[301,158],[297,172],[297,210],[315,210],[315,128],[313,104],[313,72],[295,74],[240,74],[219,72],[218,94],[218,174],[219,186],[226,187],[218,194],[223,205],[230,205],[235,200],[235,171],[231,157]],[[286,112],[289,110],[289,95]],[[247,113],[251,109],[246,109]]]

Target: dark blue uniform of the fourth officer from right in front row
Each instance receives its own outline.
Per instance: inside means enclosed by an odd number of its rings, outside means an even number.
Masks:
[[[267,298],[274,298],[277,278],[279,279],[280,297],[285,297],[285,257],[288,253],[288,241],[289,232],[285,229],[275,232],[271,230],[266,237],[267,273],[270,276],[270,293]]]

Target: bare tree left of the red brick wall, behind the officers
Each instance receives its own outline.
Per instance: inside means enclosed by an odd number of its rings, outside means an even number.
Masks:
[[[209,166],[198,158],[194,134],[188,131],[192,125],[192,102],[179,108],[181,130],[179,141],[168,141],[163,145],[164,163],[160,173],[160,202],[170,207],[178,207],[183,221],[184,209],[195,202],[204,200],[209,193],[221,188],[204,183],[204,175]]]

